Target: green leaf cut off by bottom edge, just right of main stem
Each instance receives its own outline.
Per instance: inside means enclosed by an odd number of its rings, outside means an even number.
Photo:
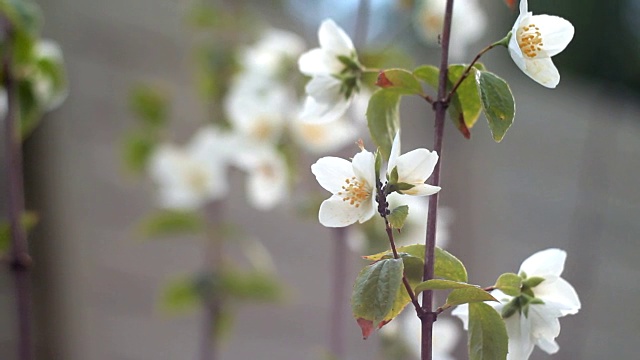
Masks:
[[[504,321],[494,308],[469,304],[469,360],[505,360],[508,341]]]

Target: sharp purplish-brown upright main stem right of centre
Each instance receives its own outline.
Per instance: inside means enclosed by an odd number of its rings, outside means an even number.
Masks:
[[[436,163],[431,185],[440,185],[440,165],[442,164],[442,138],[444,135],[444,120],[447,111],[447,70],[449,67],[449,40],[451,38],[451,19],[453,15],[453,0],[447,0],[444,15],[444,26],[442,29],[442,58],[440,61],[440,74],[438,79],[438,98],[433,103],[435,111],[435,131],[433,149],[440,156],[440,161]],[[429,216],[427,218],[427,237],[424,256],[424,281],[434,278],[434,261],[436,246],[436,221],[438,216],[438,193],[429,198]],[[433,291],[427,290],[422,295],[422,355],[421,360],[432,359],[433,349],[433,323],[436,321],[437,313],[433,311]]]

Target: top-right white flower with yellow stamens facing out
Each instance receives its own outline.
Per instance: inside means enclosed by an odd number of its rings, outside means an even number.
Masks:
[[[533,15],[527,7],[527,0],[520,1],[520,15],[509,40],[509,54],[527,76],[545,87],[555,88],[560,82],[560,73],[551,57],[569,45],[573,25],[561,17]]]

